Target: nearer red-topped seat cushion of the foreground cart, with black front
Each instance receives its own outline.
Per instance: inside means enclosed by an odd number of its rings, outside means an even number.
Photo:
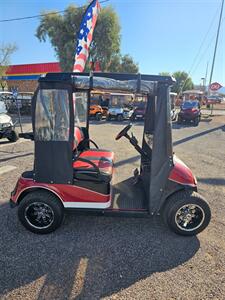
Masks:
[[[100,174],[88,162],[75,161],[73,163],[74,178],[78,180],[93,180],[110,182],[112,179],[113,165],[106,160],[91,160],[98,168]]]

